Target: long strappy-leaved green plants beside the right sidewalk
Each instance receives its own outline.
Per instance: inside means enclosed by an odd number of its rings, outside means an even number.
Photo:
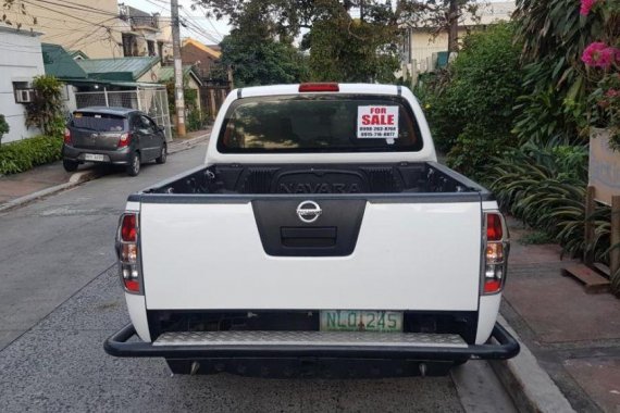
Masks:
[[[608,262],[610,209],[597,205],[585,216],[587,147],[526,142],[495,160],[486,179],[503,209],[553,237],[563,252],[594,252]],[[586,245],[584,226],[594,223],[595,238]]]

